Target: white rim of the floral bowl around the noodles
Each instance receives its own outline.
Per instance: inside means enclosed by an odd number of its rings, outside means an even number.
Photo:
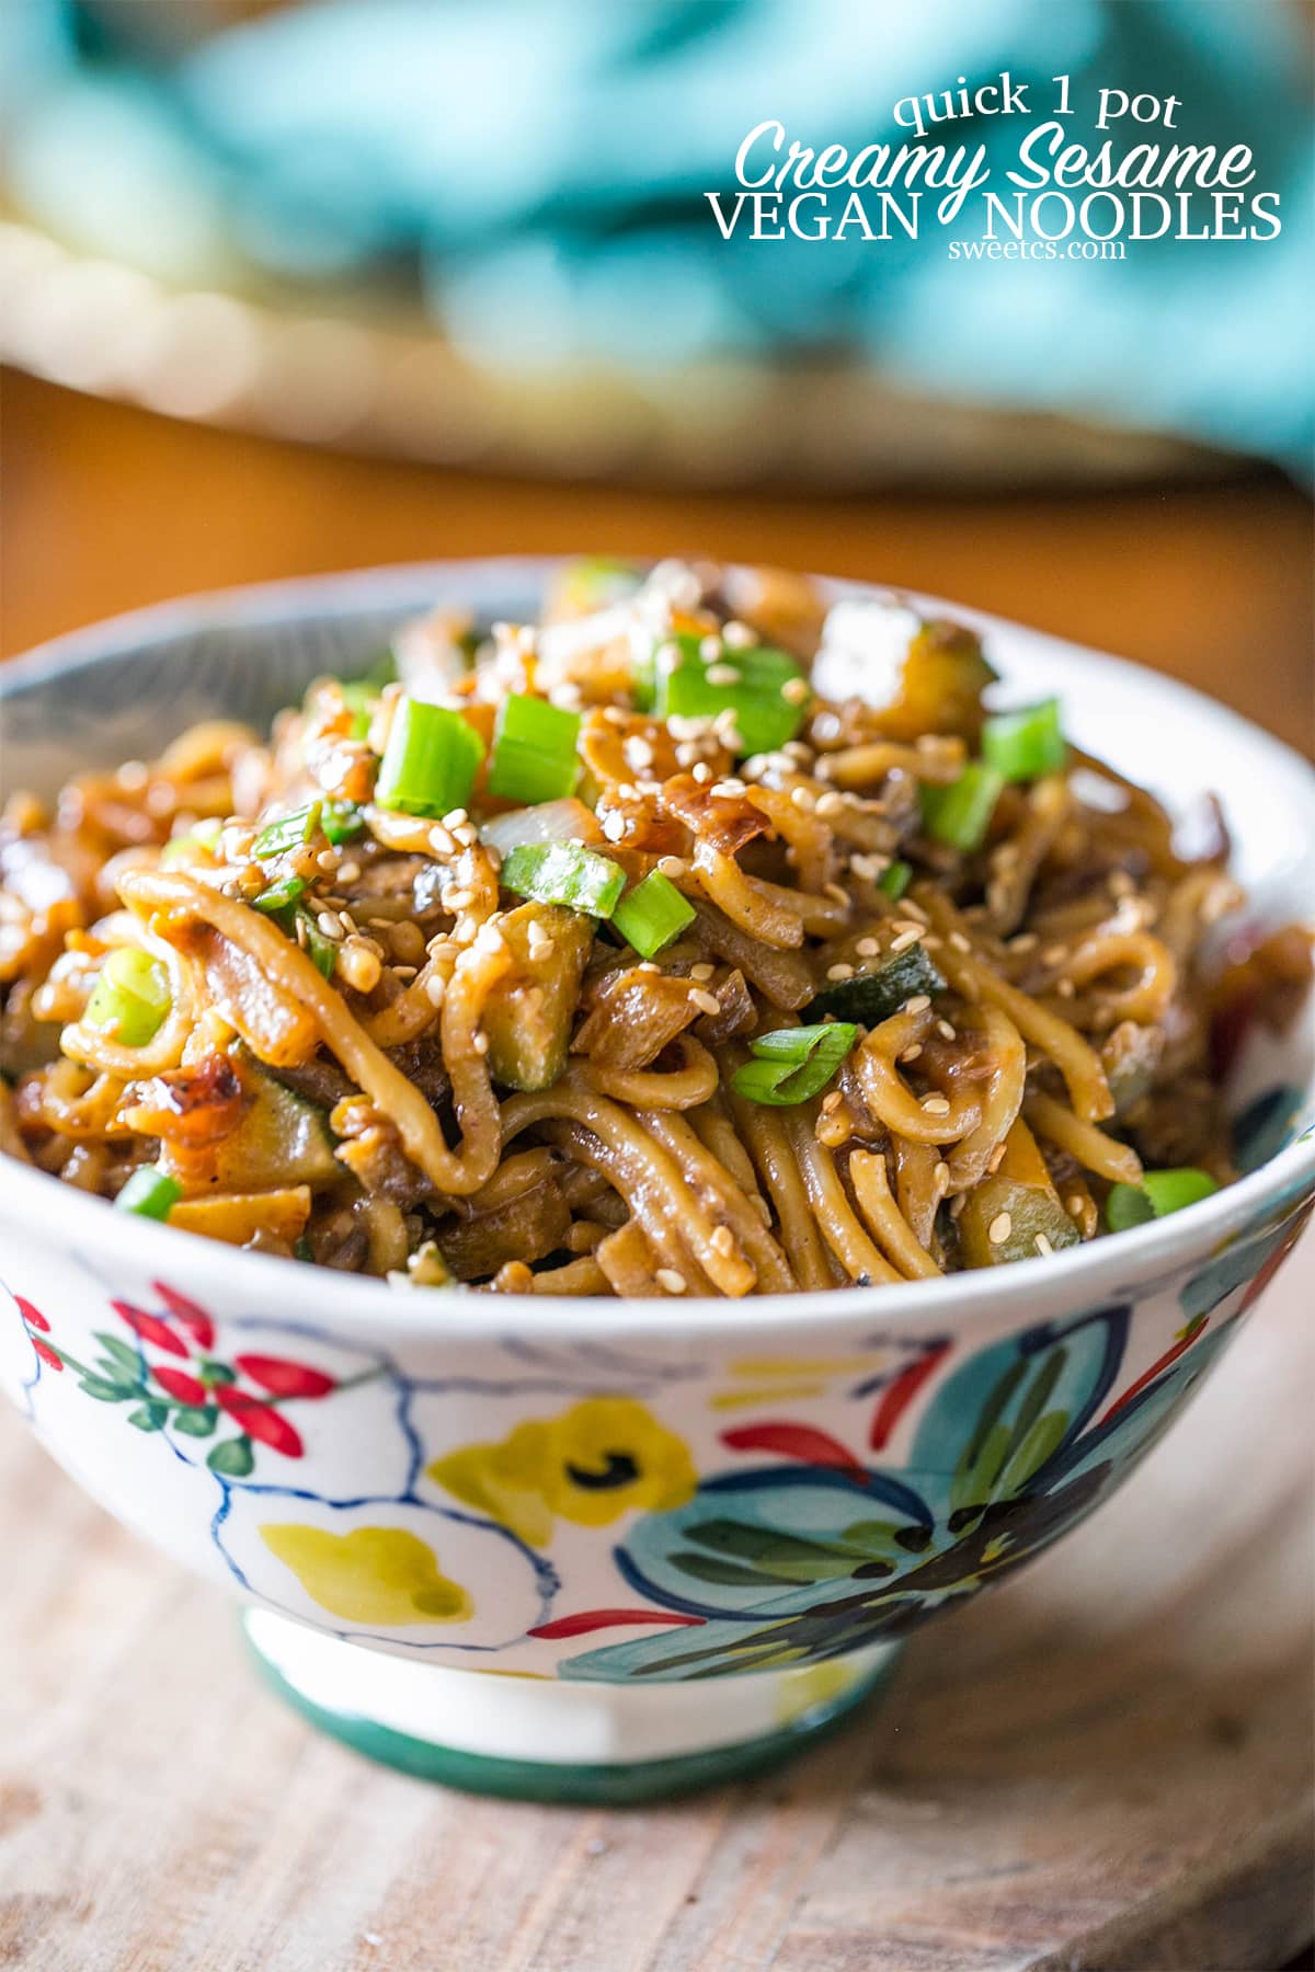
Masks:
[[[570,554],[542,556],[453,556],[424,562],[396,562],[377,568],[337,570],[315,576],[296,576],[278,582],[256,582],[235,588],[205,590],[150,603],[142,609],[104,617],[83,629],[67,631],[35,649],[0,665],[0,706],[16,690],[59,676],[63,670],[108,661],[150,643],[197,633],[201,629],[258,629],[296,621],[319,611],[353,613],[355,609],[386,609],[408,601],[426,584],[451,580],[463,568],[479,568],[485,578],[503,572],[507,580],[542,582],[544,574]],[[643,558],[647,560],[647,558]],[[1033,629],[1009,617],[992,615],[966,603],[927,596],[917,590],[891,588],[846,576],[816,578],[832,599],[895,596],[923,609],[950,613],[982,633],[1023,635],[1039,649],[1057,657],[1080,657],[1100,667],[1112,667],[1128,682],[1153,690],[1161,704],[1179,704],[1197,718],[1212,718],[1238,730],[1252,753],[1268,753],[1285,773],[1297,769],[1311,779],[1315,769],[1283,741],[1254,726],[1205,692],[1177,678],[1165,678],[1130,659],[1112,657],[1086,645],[1071,643],[1049,631]],[[337,607],[335,607],[337,605]],[[114,1213],[106,1199],[93,1197],[73,1185],[63,1185],[47,1171],[4,1160],[4,1197],[0,1219],[24,1219],[37,1232],[53,1231],[51,1213],[59,1211],[59,1244],[65,1250],[99,1248],[152,1274],[185,1278],[201,1266],[209,1276],[223,1276],[225,1300],[233,1303],[288,1302],[292,1282],[306,1288],[317,1317],[345,1323],[347,1329],[382,1329],[408,1339],[485,1339],[493,1341],[509,1327],[532,1335],[570,1335],[580,1339],[743,1339],[761,1329],[795,1327],[808,1321],[816,1327],[883,1327],[934,1329],[944,1319],[962,1313],[966,1319],[988,1319],[1009,1302],[1029,1303],[1096,1303],[1145,1294],[1147,1288],[1171,1276],[1191,1258],[1207,1260],[1222,1250],[1238,1232],[1254,1227],[1266,1207],[1283,1203],[1289,1217],[1303,1197],[1315,1193],[1315,1130],[1307,1130],[1278,1156],[1236,1183],[1189,1205],[1169,1219],[1134,1227],[1112,1238],[1088,1240],[1067,1252],[1053,1254],[1045,1264],[1015,1264],[976,1272],[944,1274],[938,1280],[911,1280],[899,1286],[838,1288],[832,1292],[765,1294],[741,1302],[726,1298],[653,1298],[597,1300],[591,1296],[485,1296],[477,1292],[394,1290],[382,1280],[359,1274],[335,1274],[331,1268],[298,1268],[290,1280],[286,1260],[250,1254],[221,1240],[201,1240],[195,1232],[148,1219],[128,1219]],[[187,1260],[191,1254],[191,1264]],[[302,1300],[302,1296],[296,1296]],[[511,1317],[515,1305],[515,1319]],[[982,1315],[982,1307],[986,1313]]]

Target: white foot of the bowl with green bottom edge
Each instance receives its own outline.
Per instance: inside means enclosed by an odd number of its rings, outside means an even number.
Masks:
[[[793,1759],[875,1690],[899,1649],[706,1682],[574,1684],[386,1656],[266,1609],[242,1623],[274,1690],[359,1753],[475,1795],[605,1806]]]

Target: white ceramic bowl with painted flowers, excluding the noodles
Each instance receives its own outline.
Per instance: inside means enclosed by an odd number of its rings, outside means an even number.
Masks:
[[[221,710],[260,724],[434,599],[517,617],[542,580],[382,570],[63,639],[0,674],[10,773],[53,787]],[[1171,807],[1220,789],[1254,911],[1309,909],[1303,761],[1163,678],[954,615]],[[737,1305],[398,1294],[6,1163],[0,1382],[95,1499],[241,1597],[327,1729],[487,1791],[690,1787],[830,1726],[903,1637],[1132,1471],[1311,1211],[1313,1057],[1311,1025],[1252,1047],[1250,1175],[1169,1221]]]

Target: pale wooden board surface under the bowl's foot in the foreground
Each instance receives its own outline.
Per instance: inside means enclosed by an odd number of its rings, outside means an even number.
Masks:
[[[599,1812],[315,1737],[0,1418],[0,1964],[1244,1972],[1309,1937],[1315,1240],[1128,1487],[785,1773]]]

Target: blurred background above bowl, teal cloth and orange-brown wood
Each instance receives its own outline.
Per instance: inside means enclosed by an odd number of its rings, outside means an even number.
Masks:
[[[1309,749],[1311,45],[1303,0],[4,0],[0,645],[379,560],[704,550],[1017,615]],[[765,116],[899,142],[899,97],[1002,69],[1073,75],[1092,146],[1098,87],[1177,95],[1283,233],[718,233]],[[1000,170],[1021,134],[931,132]]]

